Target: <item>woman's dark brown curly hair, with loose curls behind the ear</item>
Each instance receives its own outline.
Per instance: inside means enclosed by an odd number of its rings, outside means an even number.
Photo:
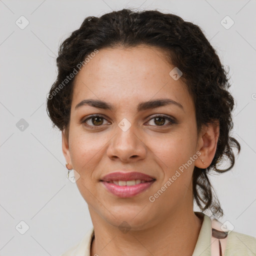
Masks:
[[[230,86],[228,72],[198,25],[158,10],[122,9],[100,17],[86,17],[58,50],[58,74],[47,96],[47,113],[53,127],[65,129],[68,134],[75,76],[66,85],[63,81],[76,70],[78,63],[95,49],[141,44],[160,47],[166,52],[169,63],[182,71],[180,79],[195,106],[197,132],[203,124],[218,122],[215,155],[207,168],[194,167],[192,187],[193,199],[201,211],[211,210],[214,216],[223,216],[208,174],[210,171],[223,173],[230,170],[235,161],[233,149],[239,153],[240,144],[229,135],[233,127],[231,112],[234,99],[227,90]],[[221,169],[218,164],[224,160],[228,160],[230,165]]]

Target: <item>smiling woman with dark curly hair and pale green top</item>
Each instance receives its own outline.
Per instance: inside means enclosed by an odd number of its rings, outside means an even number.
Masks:
[[[63,255],[255,255],[256,238],[217,221],[207,173],[230,170],[240,145],[226,72],[197,25],[156,10],[90,16],[57,67],[47,111],[93,224]]]

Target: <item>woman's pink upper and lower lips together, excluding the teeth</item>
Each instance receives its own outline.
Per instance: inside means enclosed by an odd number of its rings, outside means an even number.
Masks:
[[[127,181],[127,180],[133,180],[133,179],[145,180],[145,182],[131,185],[131,186],[127,186],[127,185],[119,186],[114,183],[109,183],[109,181],[113,181],[113,180]],[[105,175],[100,181],[103,183],[104,187],[112,194],[118,197],[131,197],[146,190],[155,181],[155,178],[141,172],[116,171],[116,172],[111,172]]]

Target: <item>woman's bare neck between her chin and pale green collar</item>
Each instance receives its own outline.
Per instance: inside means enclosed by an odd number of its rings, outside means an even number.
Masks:
[[[118,226],[103,221],[95,212],[91,216],[95,234],[91,256],[192,255],[202,224],[202,219],[192,209],[177,210],[171,217],[157,222],[157,225],[142,230],[130,229],[124,233]]]

